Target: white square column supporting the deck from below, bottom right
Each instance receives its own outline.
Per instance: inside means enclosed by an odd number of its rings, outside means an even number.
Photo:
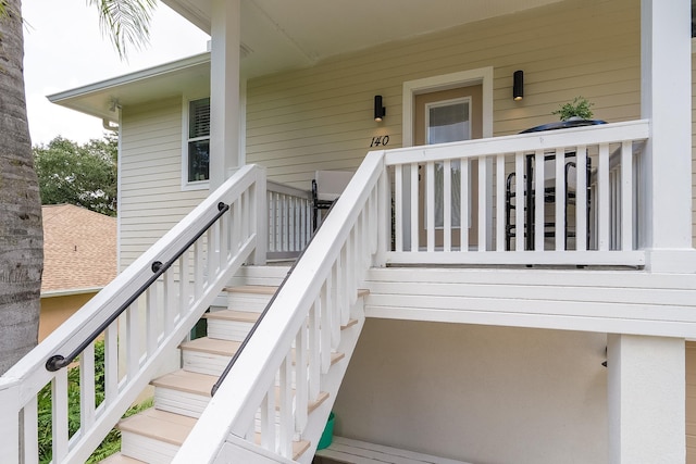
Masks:
[[[683,464],[684,340],[609,335],[611,464]]]

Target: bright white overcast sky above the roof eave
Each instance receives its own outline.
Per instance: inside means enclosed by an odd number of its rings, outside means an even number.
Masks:
[[[99,29],[86,0],[24,0],[24,81],[32,143],[57,136],[85,143],[103,137],[101,120],[50,103],[49,95],[206,51],[209,36],[158,2],[149,46],[127,61]]]

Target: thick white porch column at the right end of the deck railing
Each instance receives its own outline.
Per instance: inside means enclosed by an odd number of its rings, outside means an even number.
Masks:
[[[691,2],[641,1],[641,113],[652,134],[643,163],[642,246],[652,271],[694,271]]]

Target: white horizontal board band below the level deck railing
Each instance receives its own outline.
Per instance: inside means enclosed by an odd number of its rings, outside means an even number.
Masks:
[[[372,317],[696,338],[687,274],[375,268],[365,286]]]

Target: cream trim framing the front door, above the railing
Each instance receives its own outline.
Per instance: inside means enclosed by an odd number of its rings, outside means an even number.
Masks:
[[[417,95],[477,84],[483,88],[483,138],[493,137],[493,66],[488,66],[405,81],[401,93],[403,147],[413,146],[413,106]]]

